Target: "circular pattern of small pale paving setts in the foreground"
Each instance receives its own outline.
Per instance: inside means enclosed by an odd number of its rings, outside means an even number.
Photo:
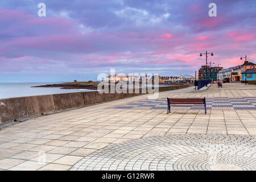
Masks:
[[[170,135],[111,144],[71,170],[256,170],[256,138]]]

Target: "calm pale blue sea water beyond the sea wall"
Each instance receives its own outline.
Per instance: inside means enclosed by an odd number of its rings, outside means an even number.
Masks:
[[[87,89],[31,88],[31,86],[53,83],[0,83],[0,99],[24,96],[40,96],[56,93],[90,92]]]

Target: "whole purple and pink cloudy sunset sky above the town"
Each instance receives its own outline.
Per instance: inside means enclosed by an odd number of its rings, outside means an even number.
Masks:
[[[195,75],[205,51],[224,68],[255,63],[255,25],[255,0],[1,0],[0,82]]]

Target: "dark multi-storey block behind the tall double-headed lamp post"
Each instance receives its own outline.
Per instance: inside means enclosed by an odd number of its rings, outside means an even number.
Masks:
[[[207,73],[205,68],[207,68]],[[218,72],[220,72],[222,69],[223,67],[221,65],[218,67],[210,67],[209,65],[205,67],[205,65],[203,65],[201,66],[198,72],[199,80],[208,80],[208,79],[217,80]]]

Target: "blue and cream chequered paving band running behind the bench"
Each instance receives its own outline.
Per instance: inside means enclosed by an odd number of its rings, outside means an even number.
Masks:
[[[194,97],[195,98],[195,97]],[[207,109],[210,110],[256,110],[256,97],[216,97],[207,98]],[[167,109],[167,99],[142,100],[126,105],[116,106],[115,109]],[[204,109],[204,107],[175,107],[181,109]],[[172,107],[174,109],[174,107]]]

